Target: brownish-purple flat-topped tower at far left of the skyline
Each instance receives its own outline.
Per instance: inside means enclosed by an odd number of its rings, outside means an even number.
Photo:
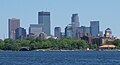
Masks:
[[[8,35],[10,39],[15,39],[15,30],[20,27],[20,19],[8,19]]]

